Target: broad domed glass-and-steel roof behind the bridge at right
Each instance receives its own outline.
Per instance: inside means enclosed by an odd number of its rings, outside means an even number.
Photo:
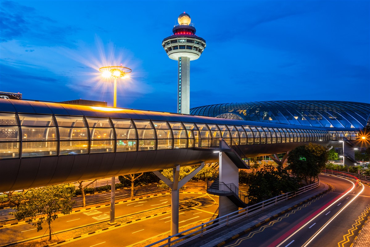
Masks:
[[[370,124],[370,104],[347,101],[256,101],[200,106],[190,114],[269,123],[355,130]]]

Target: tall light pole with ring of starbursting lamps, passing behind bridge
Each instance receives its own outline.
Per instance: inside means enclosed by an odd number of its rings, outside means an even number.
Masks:
[[[127,78],[127,74],[131,73],[132,70],[123,66],[108,66],[101,67],[99,71],[101,75],[107,79],[114,78],[114,90],[113,90],[113,107],[117,107],[117,79]],[[112,177],[111,184],[111,210],[110,210],[110,222],[108,224],[117,224],[114,222],[114,203],[115,203],[115,177]]]

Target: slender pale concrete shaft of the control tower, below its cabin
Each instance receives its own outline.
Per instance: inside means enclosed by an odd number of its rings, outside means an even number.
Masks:
[[[177,113],[190,113],[190,58],[178,59]]]

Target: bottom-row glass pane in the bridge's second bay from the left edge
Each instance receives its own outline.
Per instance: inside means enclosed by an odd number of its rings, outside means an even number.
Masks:
[[[56,141],[23,141],[22,157],[57,155]]]

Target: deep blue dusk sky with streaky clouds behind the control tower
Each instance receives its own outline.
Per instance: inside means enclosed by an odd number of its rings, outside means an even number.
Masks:
[[[0,1],[0,91],[176,112],[177,62],[161,42],[186,11],[206,40],[190,107],[268,100],[370,103],[370,1]]]

